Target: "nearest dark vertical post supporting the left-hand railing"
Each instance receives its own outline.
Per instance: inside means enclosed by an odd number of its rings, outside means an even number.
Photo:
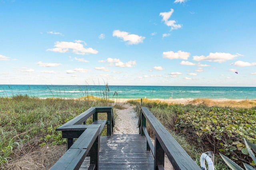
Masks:
[[[90,149],[90,164],[95,164],[95,170],[99,169],[100,135],[94,141]]]

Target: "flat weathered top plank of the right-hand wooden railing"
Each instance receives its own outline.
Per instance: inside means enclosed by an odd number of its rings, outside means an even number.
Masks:
[[[150,127],[159,140],[175,170],[200,170],[199,166],[192,160],[186,151],[178,144],[164,126],[154,117],[146,107],[141,107]]]

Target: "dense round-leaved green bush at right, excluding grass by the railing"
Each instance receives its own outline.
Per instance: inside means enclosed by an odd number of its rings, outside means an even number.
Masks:
[[[243,138],[256,143],[256,110],[208,107],[199,111],[178,113],[176,129],[188,134],[202,147],[212,148],[232,159],[254,162],[248,156]]]

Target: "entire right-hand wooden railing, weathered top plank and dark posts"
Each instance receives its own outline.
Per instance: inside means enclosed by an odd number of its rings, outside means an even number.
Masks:
[[[146,121],[154,132],[154,145],[148,135]],[[164,154],[167,155],[175,170],[201,169],[146,107],[141,107],[138,126],[140,134],[146,136],[147,150],[150,150],[154,157],[154,169],[164,169]]]

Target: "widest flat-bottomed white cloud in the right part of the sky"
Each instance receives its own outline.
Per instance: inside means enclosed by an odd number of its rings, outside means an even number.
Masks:
[[[238,56],[242,56],[241,54],[235,54],[232,55],[230,53],[210,53],[208,56],[200,55],[200,56],[193,56],[193,60],[195,61],[214,61],[223,63],[225,61],[228,61],[230,59],[234,59]]]

